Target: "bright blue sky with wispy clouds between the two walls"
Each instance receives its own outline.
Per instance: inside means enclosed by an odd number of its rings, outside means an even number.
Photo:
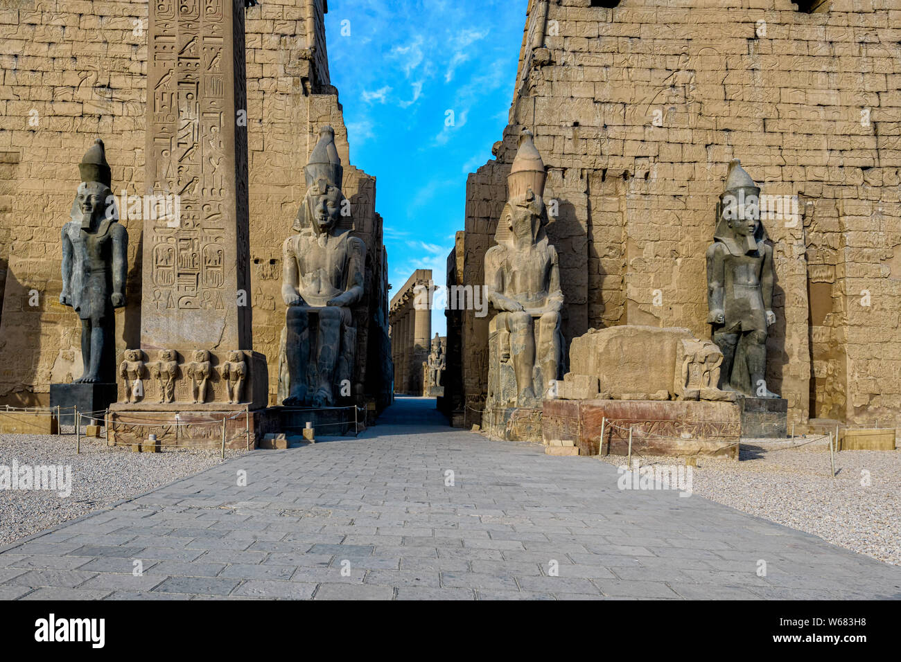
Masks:
[[[492,158],[507,123],[526,4],[329,0],[329,71],[350,160],[378,180],[391,295],[416,268],[444,283],[467,174]],[[444,334],[442,311],[435,331]]]

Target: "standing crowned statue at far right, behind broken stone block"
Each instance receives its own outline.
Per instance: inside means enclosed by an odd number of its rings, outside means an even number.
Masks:
[[[760,187],[738,159],[720,195],[714,243],[707,249],[707,322],[723,352],[720,385],[750,397],[767,388],[767,334],[773,313],[773,249],[760,224]]]

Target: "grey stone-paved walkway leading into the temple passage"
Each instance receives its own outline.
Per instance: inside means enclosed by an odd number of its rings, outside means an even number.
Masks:
[[[0,599],[901,597],[898,567],[698,496],[618,490],[615,467],[452,430],[432,400],[327,439],[7,547]]]

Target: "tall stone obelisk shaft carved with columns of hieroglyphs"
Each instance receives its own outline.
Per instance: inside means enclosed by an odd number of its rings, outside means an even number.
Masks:
[[[144,349],[250,349],[241,0],[150,0]],[[161,208],[161,207],[160,207]]]

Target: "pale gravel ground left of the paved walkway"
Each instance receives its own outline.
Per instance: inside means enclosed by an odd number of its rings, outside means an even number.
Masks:
[[[62,431],[67,431],[66,426]],[[226,455],[240,452],[230,450]],[[0,489],[0,546],[223,461],[218,450],[133,453],[84,437],[81,453],[76,455],[73,434],[0,434],[0,466],[11,467],[13,460],[20,467],[72,467],[72,494],[61,497],[57,492]]]

